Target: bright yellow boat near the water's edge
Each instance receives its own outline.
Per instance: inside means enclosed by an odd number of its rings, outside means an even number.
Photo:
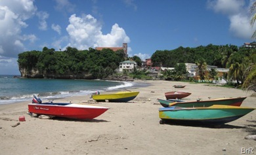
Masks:
[[[95,94],[92,95],[93,99],[98,102],[128,102],[135,99],[139,92],[117,92],[114,94]]]

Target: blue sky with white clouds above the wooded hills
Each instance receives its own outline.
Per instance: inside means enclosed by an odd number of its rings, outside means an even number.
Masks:
[[[0,75],[20,75],[18,54],[67,46],[87,50],[128,43],[150,58],[179,46],[252,42],[251,0],[1,0]]]

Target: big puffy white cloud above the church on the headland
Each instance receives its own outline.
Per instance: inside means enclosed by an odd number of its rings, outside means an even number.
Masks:
[[[81,17],[72,14],[69,19],[70,24],[66,28],[70,36],[70,44],[80,50],[95,48],[96,46],[122,46],[129,43],[130,39],[125,30],[114,24],[110,33],[102,34],[102,26],[91,14]]]

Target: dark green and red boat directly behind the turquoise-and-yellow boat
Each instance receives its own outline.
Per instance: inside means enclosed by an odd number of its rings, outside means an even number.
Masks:
[[[233,105],[240,106],[246,97],[219,98],[197,101],[174,101],[172,99],[158,99],[163,107],[209,107],[211,105]]]

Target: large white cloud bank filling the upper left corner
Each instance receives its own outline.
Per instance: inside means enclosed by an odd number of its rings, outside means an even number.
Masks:
[[[37,7],[31,0],[0,1],[1,56],[17,58],[24,51],[23,41],[34,41],[35,35],[22,35],[26,20],[32,18]]]

